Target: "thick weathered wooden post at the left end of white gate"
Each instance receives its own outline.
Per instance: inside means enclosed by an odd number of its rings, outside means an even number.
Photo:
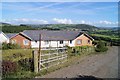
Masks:
[[[32,52],[34,62],[34,72],[38,73],[38,50]]]

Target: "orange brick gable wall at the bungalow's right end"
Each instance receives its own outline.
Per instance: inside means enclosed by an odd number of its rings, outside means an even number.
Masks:
[[[82,43],[77,44],[77,40],[81,40]],[[90,43],[88,43],[88,40],[90,40]],[[85,36],[84,34],[82,34],[81,36],[75,39],[75,46],[92,46],[92,40],[88,38],[87,36]]]

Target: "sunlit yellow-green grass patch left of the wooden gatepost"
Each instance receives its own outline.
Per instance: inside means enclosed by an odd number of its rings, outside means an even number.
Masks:
[[[3,60],[18,61],[25,58],[32,58],[32,49],[2,50]]]

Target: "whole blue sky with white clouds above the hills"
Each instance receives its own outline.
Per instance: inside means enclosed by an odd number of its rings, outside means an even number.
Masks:
[[[2,2],[2,22],[117,27],[117,2]]]

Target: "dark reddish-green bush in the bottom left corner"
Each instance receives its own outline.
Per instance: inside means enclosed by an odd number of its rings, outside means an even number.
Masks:
[[[3,60],[2,62],[2,73],[3,78],[11,78],[11,77],[22,77],[24,75],[25,71],[27,72],[33,72],[34,66],[33,66],[33,59],[31,58],[25,58],[21,59],[16,62]]]

